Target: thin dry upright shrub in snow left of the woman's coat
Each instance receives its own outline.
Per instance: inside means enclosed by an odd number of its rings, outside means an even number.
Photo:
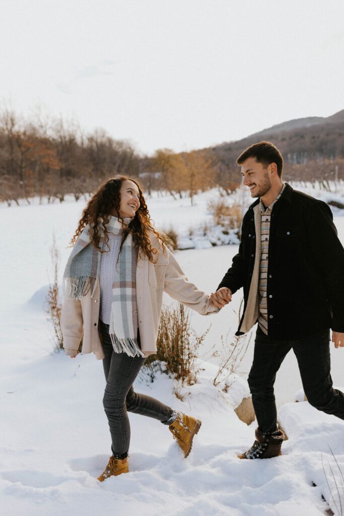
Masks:
[[[60,317],[62,305],[60,303],[59,286],[58,286],[58,269],[60,265],[60,252],[56,245],[55,234],[53,234],[53,245],[50,249],[50,255],[53,264],[53,282],[49,285],[46,295],[47,319],[51,323],[54,331],[54,341],[58,350],[63,348],[63,337],[60,326]]]

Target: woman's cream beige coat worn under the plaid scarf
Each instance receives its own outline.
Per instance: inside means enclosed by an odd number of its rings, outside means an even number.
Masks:
[[[138,258],[136,267],[136,304],[141,349],[145,356],[156,353],[162,293],[185,304],[200,314],[218,312],[210,306],[209,296],[188,281],[173,254],[159,254],[153,264],[145,255]],[[83,337],[83,353],[95,353],[103,359],[101,339],[98,332],[100,306],[99,281],[91,297],[90,292],[81,301],[65,299],[61,314],[63,346],[68,355],[76,355]]]

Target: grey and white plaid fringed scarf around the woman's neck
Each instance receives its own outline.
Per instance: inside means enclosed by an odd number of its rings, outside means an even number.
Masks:
[[[124,218],[128,224],[131,218]],[[104,225],[100,224],[102,248],[107,248],[104,237]],[[123,235],[122,224],[117,217],[110,216],[107,231]],[[91,291],[93,297],[101,263],[101,255],[90,242],[90,227],[87,225],[79,235],[68,259],[63,274],[63,293],[67,298],[81,299]],[[138,322],[136,308],[136,264],[137,249],[133,237],[128,233],[124,240],[117,264],[114,266],[112,285],[112,302],[109,335],[112,346],[117,353],[126,353],[129,357],[144,356],[138,342]]]

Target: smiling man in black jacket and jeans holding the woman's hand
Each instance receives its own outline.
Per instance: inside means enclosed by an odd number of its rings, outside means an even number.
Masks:
[[[241,459],[281,455],[273,385],[290,349],[308,402],[344,419],[344,394],[332,388],[330,328],[344,346],[344,249],[330,207],[282,182],[283,158],[261,141],[237,159],[243,184],[258,198],[242,221],[241,244],[212,303],[221,308],[243,286],[236,335],[258,322],[248,383],[258,428]]]

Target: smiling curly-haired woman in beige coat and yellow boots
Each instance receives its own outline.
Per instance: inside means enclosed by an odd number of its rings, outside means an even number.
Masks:
[[[75,358],[83,337],[83,353],[103,360],[107,382],[112,455],[98,480],[128,472],[127,411],[167,425],[187,457],[201,421],[135,393],[133,383],[145,358],[156,353],[163,291],[199,313],[217,309],[187,280],[153,227],[139,183],[128,176],[94,193],[71,243],[63,276],[64,349]]]

